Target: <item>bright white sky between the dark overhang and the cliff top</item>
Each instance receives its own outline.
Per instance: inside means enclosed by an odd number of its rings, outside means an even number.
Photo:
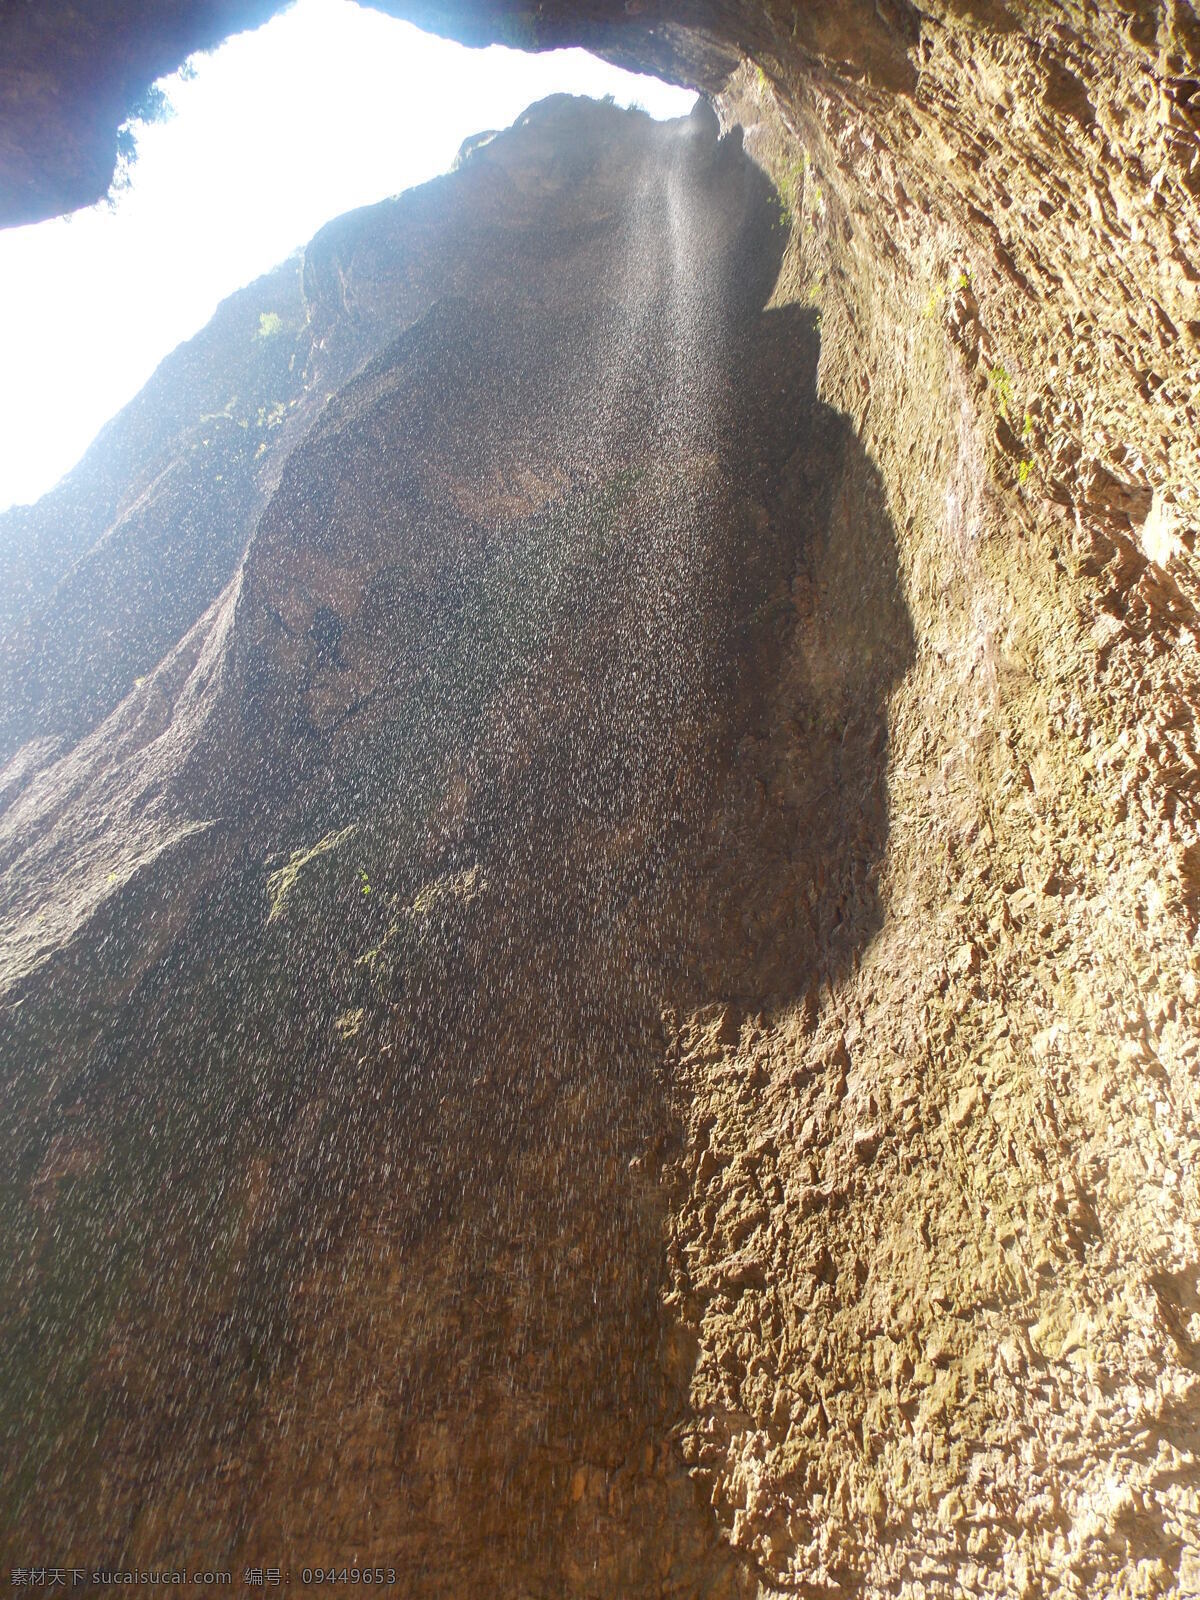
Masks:
[[[37,499],[218,301],[328,222],[450,168],[546,94],[654,117],[694,94],[581,50],[464,50],[354,0],[296,0],[163,78],[115,206],[0,230],[0,509]]]

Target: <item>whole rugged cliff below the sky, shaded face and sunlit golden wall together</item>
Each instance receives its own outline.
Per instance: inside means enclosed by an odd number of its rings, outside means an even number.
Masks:
[[[13,1560],[1200,1594],[1195,13],[419,19],[754,59],[0,530]]]

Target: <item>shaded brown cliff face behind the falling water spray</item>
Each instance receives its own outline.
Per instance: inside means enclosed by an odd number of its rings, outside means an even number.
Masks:
[[[235,298],[14,597],[13,1552],[746,1589],[680,1040],[851,970],[910,654],[786,237],[710,110],[547,101]]]

